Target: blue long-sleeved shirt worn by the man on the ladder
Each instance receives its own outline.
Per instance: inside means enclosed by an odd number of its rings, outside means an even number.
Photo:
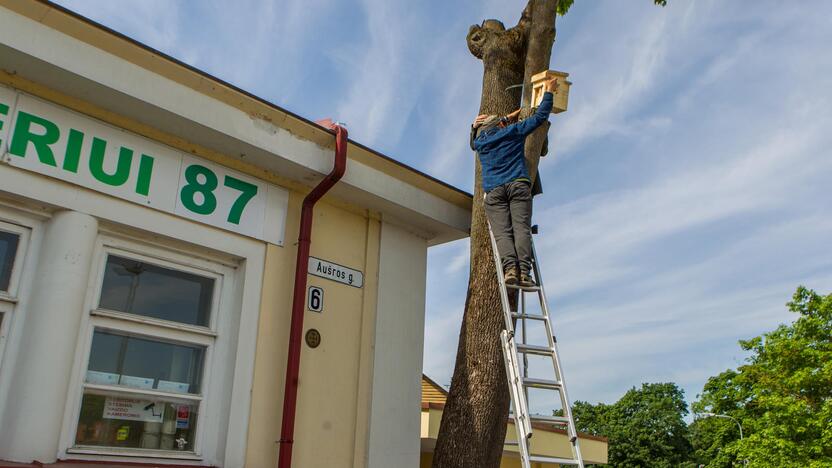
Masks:
[[[526,136],[549,118],[552,93],[545,93],[534,115],[505,128],[494,127],[474,140],[482,165],[482,188],[486,192],[512,180],[529,178],[524,149]]]

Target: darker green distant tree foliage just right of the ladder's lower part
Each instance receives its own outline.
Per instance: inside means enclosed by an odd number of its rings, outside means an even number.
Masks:
[[[622,468],[687,466],[687,413],[684,392],[674,383],[633,387],[612,405],[574,405],[578,430],[609,438],[609,466]]]

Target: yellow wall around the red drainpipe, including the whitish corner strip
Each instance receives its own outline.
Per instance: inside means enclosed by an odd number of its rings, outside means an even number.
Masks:
[[[287,240],[300,202],[290,196]],[[287,241],[267,253],[247,466],[277,463],[296,252]],[[324,289],[324,310],[305,312],[304,332],[315,328],[322,341],[301,348],[293,466],[415,466],[427,244],[372,215],[321,203],[311,254],[362,270],[365,284],[309,277]]]

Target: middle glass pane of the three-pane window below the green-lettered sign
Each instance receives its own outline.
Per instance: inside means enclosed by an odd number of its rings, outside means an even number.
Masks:
[[[96,330],[87,382],[199,393],[205,348]]]

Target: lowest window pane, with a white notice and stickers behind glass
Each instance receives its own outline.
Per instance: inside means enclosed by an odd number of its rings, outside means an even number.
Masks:
[[[85,393],[75,444],[193,452],[196,404]]]

